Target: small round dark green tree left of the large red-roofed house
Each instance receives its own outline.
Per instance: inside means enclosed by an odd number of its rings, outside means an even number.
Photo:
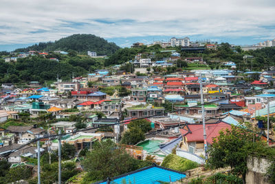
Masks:
[[[135,145],[136,143],[145,139],[144,133],[140,127],[132,127],[130,130],[125,132],[122,136],[122,144]]]

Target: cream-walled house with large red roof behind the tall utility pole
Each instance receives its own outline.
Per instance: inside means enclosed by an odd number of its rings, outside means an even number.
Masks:
[[[212,145],[213,138],[219,136],[221,130],[230,129],[231,125],[220,121],[219,123],[206,123],[206,143]],[[203,139],[203,124],[186,123],[184,127],[179,129],[182,135],[182,141],[179,143],[181,150],[186,152],[197,154],[197,156],[203,155],[204,152],[204,139]]]

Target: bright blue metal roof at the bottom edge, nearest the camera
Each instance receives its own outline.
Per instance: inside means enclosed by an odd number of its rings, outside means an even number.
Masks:
[[[161,166],[149,166],[144,167],[140,170],[134,172],[129,172],[127,174],[122,174],[121,176],[113,178],[111,183],[135,183],[135,184],[144,184],[144,183],[159,183],[158,181],[164,182],[175,182],[181,178],[185,178],[186,174],[182,172],[177,172],[175,170],[170,170],[166,167]],[[101,184],[107,184],[107,181],[98,182]]]

